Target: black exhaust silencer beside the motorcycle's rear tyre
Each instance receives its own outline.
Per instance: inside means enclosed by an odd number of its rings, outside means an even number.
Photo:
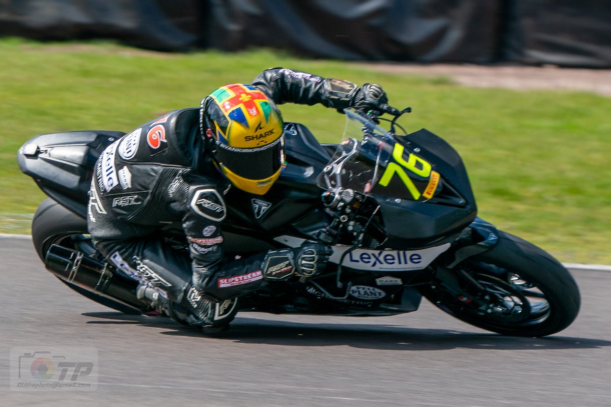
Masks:
[[[47,270],[95,294],[145,311],[146,306],[136,297],[138,282],[113,273],[104,262],[85,256],[80,251],[51,245],[45,256]]]

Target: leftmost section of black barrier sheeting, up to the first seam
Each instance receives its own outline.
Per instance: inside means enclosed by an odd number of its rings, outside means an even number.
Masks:
[[[111,38],[159,51],[199,45],[197,0],[4,0],[0,35],[36,40]]]

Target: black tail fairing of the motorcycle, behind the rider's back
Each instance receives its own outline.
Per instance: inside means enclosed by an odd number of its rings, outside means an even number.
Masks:
[[[21,172],[34,178],[46,195],[85,217],[95,162],[120,131],[70,131],[41,134],[17,154]]]

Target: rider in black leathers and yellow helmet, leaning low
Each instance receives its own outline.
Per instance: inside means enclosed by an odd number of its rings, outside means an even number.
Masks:
[[[230,84],[199,109],[174,110],[123,136],[101,154],[90,189],[87,225],[98,251],[141,281],[142,301],[176,320],[224,329],[237,297],[266,280],[312,276],[332,253],[306,242],[246,259],[223,256],[224,195],[230,187],[263,195],[280,175],[284,129],[277,104],[397,113],[379,85],[285,68],[251,85]],[[160,237],[181,221],[189,252]],[[169,299],[170,301],[166,300]]]

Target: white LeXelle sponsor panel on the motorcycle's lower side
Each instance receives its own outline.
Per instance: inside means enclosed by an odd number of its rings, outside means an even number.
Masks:
[[[421,250],[364,250],[357,249],[345,256],[342,265],[357,270],[421,270],[448,250],[450,243],[445,245],[430,247]],[[348,250],[344,246],[335,246],[334,252],[329,261],[338,263],[342,254]]]

